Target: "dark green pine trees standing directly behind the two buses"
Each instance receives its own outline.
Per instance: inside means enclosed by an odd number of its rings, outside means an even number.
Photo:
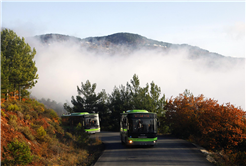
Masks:
[[[72,106],[64,104],[68,112],[95,112],[101,118],[101,129],[119,131],[120,113],[131,109],[145,109],[155,112],[159,117],[165,115],[165,95],[154,82],[140,87],[140,80],[136,74],[130,83],[114,87],[111,94],[105,90],[96,93],[96,83],[89,80],[77,86],[77,96],[72,96]]]

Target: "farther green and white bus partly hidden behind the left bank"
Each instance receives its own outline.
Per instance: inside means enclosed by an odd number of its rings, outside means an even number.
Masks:
[[[85,131],[88,133],[100,132],[100,122],[98,113],[76,112],[61,116],[62,124],[67,130],[74,128],[81,123]]]

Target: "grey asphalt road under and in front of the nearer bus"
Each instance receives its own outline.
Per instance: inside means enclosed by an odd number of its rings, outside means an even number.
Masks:
[[[125,147],[119,132],[101,132],[93,137],[101,138],[106,148],[94,166],[214,166],[196,146],[171,136],[158,136],[154,147]]]

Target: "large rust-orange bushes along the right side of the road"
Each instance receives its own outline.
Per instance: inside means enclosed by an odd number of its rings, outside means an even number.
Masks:
[[[172,133],[195,139],[209,149],[234,149],[246,139],[246,114],[230,103],[180,94],[166,105],[166,123]]]

